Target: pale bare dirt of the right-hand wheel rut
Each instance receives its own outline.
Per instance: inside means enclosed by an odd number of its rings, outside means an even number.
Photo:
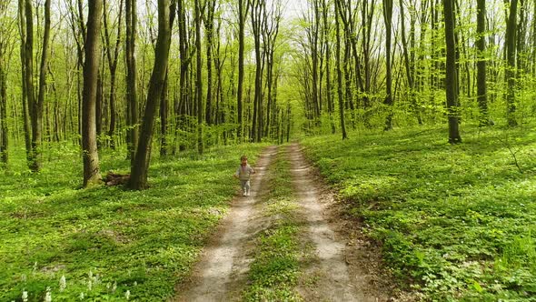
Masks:
[[[316,248],[318,262],[309,267],[306,274],[317,277],[314,287],[300,291],[307,301],[382,301],[387,297],[371,288],[366,274],[359,266],[350,266],[346,238],[337,234],[335,224],[329,222],[333,214],[329,201],[321,192],[322,186],[314,178],[314,171],[303,157],[301,146],[293,144],[288,149],[291,161],[293,185],[303,216],[309,225],[309,238]],[[305,289],[305,290],[304,290]]]

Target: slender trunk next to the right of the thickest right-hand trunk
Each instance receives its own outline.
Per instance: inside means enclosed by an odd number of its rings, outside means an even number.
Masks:
[[[486,0],[477,1],[477,40],[478,49],[477,68],[477,101],[480,109],[479,125],[487,126],[488,117],[488,92],[486,84]]]

